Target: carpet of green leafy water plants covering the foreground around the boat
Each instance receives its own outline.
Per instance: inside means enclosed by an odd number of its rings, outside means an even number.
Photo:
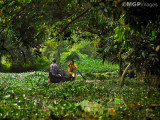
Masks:
[[[0,119],[153,119],[160,117],[160,93],[144,82],[117,74],[103,80],[48,83],[46,72],[0,73]]]

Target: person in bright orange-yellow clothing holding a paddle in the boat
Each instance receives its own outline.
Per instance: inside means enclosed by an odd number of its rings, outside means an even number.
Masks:
[[[74,64],[74,61],[71,60],[70,61],[70,64],[68,64],[68,72],[72,74],[73,77],[76,77],[76,69],[78,70],[77,68],[77,65]]]

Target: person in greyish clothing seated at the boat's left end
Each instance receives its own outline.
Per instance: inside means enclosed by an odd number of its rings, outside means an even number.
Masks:
[[[56,63],[56,59],[53,58],[52,62],[53,63],[50,65],[50,73],[55,77],[60,77],[61,74],[60,74],[59,66]]]

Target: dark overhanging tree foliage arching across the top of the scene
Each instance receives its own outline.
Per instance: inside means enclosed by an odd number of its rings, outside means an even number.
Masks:
[[[95,40],[103,61],[117,58],[137,70],[159,74],[159,8],[124,6],[125,0],[1,0],[0,58],[41,55],[44,43],[68,40],[72,34]],[[133,1],[128,1],[133,2]],[[156,3],[150,0],[134,2]],[[89,32],[88,34],[83,34]],[[50,38],[48,40],[48,38]],[[54,45],[53,43],[51,45]],[[59,47],[60,49],[60,47]],[[60,53],[60,52],[59,52]],[[59,54],[58,53],[58,54]],[[60,55],[60,54],[59,54]],[[22,56],[22,57],[17,57]],[[139,67],[141,66],[141,67]],[[156,69],[155,69],[156,68]]]

